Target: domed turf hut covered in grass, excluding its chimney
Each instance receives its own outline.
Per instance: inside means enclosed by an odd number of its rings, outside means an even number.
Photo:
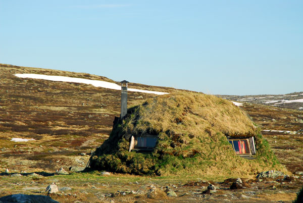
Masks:
[[[255,151],[249,151],[252,137]],[[237,156],[239,147],[242,154],[256,153],[256,159]],[[128,109],[94,152],[90,167],[132,174],[241,177],[263,170],[283,171],[240,108],[213,95],[183,91]]]

